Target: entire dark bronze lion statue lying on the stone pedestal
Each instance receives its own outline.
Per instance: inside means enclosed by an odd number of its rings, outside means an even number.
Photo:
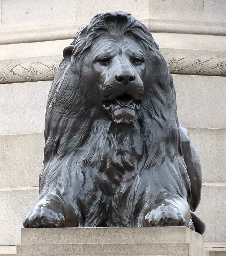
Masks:
[[[97,14],[63,57],[46,107],[39,201],[24,227],[203,233],[199,158],[146,26],[122,11]]]

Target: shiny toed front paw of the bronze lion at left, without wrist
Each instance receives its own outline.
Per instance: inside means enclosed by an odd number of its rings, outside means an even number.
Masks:
[[[23,226],[25,228],[37,228],[37,227],[63,227],[65,217],[62,213],[59,213],[48,204],[41,204],[36,206],[33,211],[27,214],[24,219]]]

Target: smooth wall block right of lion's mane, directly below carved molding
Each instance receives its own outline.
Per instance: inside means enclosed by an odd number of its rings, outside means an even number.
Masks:
[[[173,75],[179,122],[188,128],[226,128],[225,78]]]

